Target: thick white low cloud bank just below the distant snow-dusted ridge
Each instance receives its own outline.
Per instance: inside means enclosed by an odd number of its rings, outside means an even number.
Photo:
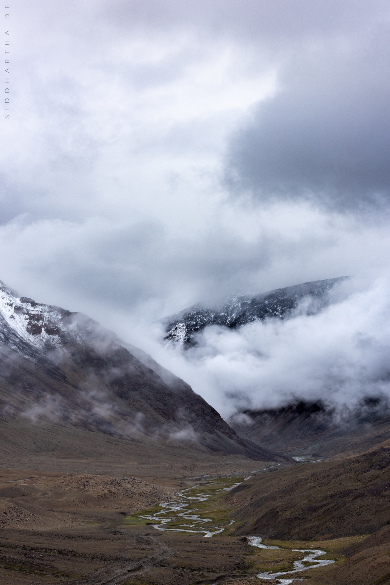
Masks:
[[[390,398],[388,277],[343,283],[330,305],[313,314],[239,329],[216,325],[198,345],[176,353],[182,373],[225,418],[297,400],[356,408],[364,398]],[[304,301],[305,302],[305,301]],[[173,360],[172,360],[173,361]]]

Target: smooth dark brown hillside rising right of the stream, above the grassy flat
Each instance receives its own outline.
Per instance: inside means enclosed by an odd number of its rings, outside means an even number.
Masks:
[[[259,474],[230,491],[237,534],[337,538],[371,534],[390,523],[390,449]]]

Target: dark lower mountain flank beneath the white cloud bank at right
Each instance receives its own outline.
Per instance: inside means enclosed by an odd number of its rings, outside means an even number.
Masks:
[[[240,436],[292,457],[347,457],[390,439],[390,410],[384,398],[365,398],[342,413],[321,401],[301,400],[240,414],[230,421]]]

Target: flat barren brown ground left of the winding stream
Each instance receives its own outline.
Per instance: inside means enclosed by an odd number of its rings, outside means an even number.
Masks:
[[[253,467],[221,463],[230,472]],[[0,482],[1,583],[189,584],[205,573],[246,572],[242,538],[161,534],[125,522],[196,483],[173,476],[169,464],[147,478],[2,469]]]

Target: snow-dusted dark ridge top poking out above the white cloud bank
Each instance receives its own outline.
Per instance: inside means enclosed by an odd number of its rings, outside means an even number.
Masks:
[[[348,277],[327,278],[277,288],[254,296],[230,297],[213,308],[196,304],[165,319],[167,335],[164,339],[175,345],[192,345],[194,333],[201,331],[206,325],[222,325],[233,329],[253,321],[263,321],[267,317],[282,319],[291,314],[305,299],[309,301],[306,311],[317,312],[319,307],[326,303],[327,292],[346,278]]]

